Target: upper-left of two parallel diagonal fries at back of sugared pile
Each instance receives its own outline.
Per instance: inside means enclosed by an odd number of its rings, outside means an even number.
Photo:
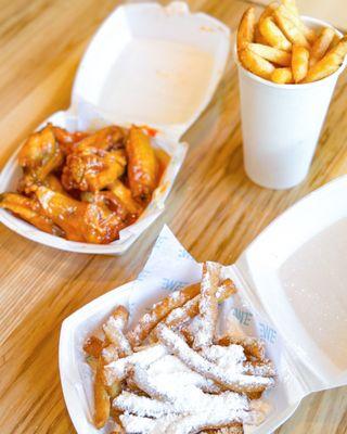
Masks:
[[[183,306],[189,299],[192,299],[200,293],[200,284],[193,284],[181,291],[175,291],[167,297],[156,303],[151,311],[140,318],[139,323],[127,333],[127,337],[132,346],[140,345],[151,333],[151,331],[160,322],[171,310]]]

